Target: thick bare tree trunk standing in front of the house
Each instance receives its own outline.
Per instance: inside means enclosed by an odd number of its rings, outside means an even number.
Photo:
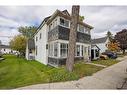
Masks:
[[[66,69],[70,72],[73,70],[73,64],[74,64],[74,58],[75,58],[77,25],[79,20],[79,8],[80,6],[76,6],[76,5],[72,6],[68,57],[66,60]]]

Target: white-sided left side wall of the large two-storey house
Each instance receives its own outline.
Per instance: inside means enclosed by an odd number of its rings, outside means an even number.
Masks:
[[[41,33],[41,39],[40,39],[40,33]],[[36,41],[36,37],[38,37],[38,40]],[[35,49],[35,60],[47,64],[47,51],[46,51],[46,44],[47,44],[47,25],[44,24],[44,26],[39,30],[39,32],[35,35],[35,48],[37,46],[37,55],[36,55],[36,49]]]

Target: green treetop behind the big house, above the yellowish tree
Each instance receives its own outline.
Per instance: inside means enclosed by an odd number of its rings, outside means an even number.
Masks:
[[[36,32],[37,27],[35,26],[25,26],[25,27],[19,27],[18,31],[27,38],[32,38],[34,33]]]

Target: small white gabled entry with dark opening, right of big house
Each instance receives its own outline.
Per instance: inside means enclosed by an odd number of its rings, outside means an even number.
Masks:
[[[96,60],[100,57],[100,48],[97,45],[91,45],[91,59]]]

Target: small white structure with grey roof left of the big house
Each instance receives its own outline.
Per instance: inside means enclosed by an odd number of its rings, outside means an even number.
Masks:
[[[26,59],[27,60],[35,59],[35,42],[34,42],[34,39],[28,39],[28,41],[27,41]]]

